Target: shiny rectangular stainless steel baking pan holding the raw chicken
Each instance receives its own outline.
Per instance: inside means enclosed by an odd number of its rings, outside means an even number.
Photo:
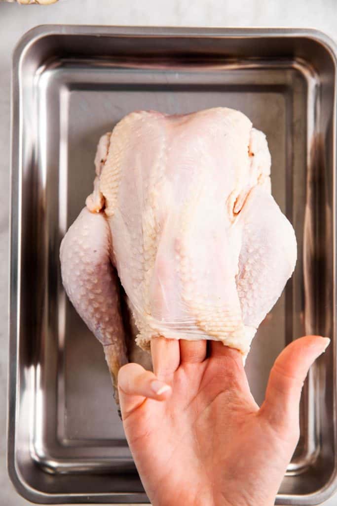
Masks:
[[[336,48],[313,30],[42,26],[14,54],[9,474],[34,502],[148,503],[102,347],[65,296],[59,245],[91,191],[100,135],[134,109],[245,112],[299,260],[247,360],[258,402],[285,344],[332,338],[309,374],[278,504],[336,487]],[[160,443],[159,443],[160,445]],[[244,451],[244,449],[243,449]]]

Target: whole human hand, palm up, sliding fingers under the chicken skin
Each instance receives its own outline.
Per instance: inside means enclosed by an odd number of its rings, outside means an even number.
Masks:
[[[261,408],[242,356],[220,342],[156,338],[154,373],[124,365],[118,375],[124,430],[152,504],[274,504],[299,438],[304,379],[328,343],[311,335],[288,345]]]

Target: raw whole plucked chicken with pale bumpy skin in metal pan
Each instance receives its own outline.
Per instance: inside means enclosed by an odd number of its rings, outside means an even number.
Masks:
[[[270,163],[265,135],[222,107],[133,112],[100,139],[93,193],[60,258],[115,388],[118,369],[135,359],[124,335],[131,327],[143,350],[162,335],[218,340],[247,356],[297,256],[293,227],[271,196]]]

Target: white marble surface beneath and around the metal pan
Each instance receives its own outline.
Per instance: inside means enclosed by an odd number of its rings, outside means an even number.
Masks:
[[[337,41],[337,0],[60,0],[51,6],[0,4],[0,506],[28,502],[6,471],[10,76],[19,37],[43,23],[318,28]],[[337,504],[337,496],[325,506]]]

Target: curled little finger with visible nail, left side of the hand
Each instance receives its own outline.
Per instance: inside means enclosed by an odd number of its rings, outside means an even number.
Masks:
[[[118,393],[123,419],[147,398],[163,401],[171,392],[169,385],[159,381],[153,372],[147,371],[139,364],[125,364],[119,369]]]

